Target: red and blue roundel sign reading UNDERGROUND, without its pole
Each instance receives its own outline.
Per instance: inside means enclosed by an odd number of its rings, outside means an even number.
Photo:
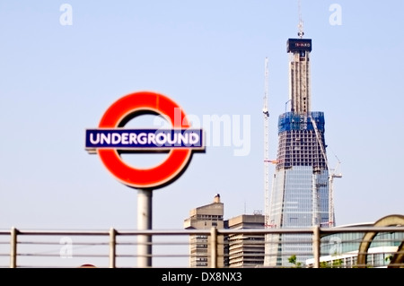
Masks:
[[[171,129],[124,128],[134,117],[162,116]],[[193,152],[205,152],[202,129],[190,128],[186,114],[168,97],[138,91],[115,101],[101,117],[98,128],[87,129],[85,150],[98,154],[104,166],[121,183],[140,189],[155,189],[179,178],[188,167]],[[153,168],[135,168],[121,159],[122,152],[169,152]]]

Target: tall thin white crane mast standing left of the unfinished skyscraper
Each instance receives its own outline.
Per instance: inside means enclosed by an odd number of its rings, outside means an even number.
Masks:
[[[265,194],[265,227],[268,227],[269,217],[269,111],[268,111],[268,57],[265,58],[265,87],[264,87],[264,194]]]

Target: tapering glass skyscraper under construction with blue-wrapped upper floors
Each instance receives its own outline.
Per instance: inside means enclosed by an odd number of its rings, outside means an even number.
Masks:
[[[324,114],[311,110],[312,39],[287,40],[290,111],[278,117],[278,149],[268,210],[273,229],[334,226],[329,169],[324,141]],[[312,257],[311,234],[268,235],[266,264],[288,265],[295,255],[304,264]]]

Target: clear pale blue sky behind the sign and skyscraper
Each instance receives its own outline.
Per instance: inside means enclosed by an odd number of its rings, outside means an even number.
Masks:
[[[60,22],[64,3],[72,25]],[[334,3],[341,25],[329,21]],[[341,161],[338,225],[404,211],[403,12],[401,0],[302,1],[312,110],[325,113],[330,167]],[[182,229],[216,193],[224,219],[263,211],[264,59],[275,159],[297,23],[291,0],[0,2],[0,229],[136,229],[136,189],[84,150],[85,129],[133,91],[161,92],[200,120],[250,118],[246,156],[235,142],[208,146],[154,191],[154,229]]]

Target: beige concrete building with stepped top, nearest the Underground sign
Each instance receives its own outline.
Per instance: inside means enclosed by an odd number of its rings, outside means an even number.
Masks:
[[[189,218],[184,221],[186,230],[211,230],[212,227],[224,229],[224,204],[220,201],[220,195],[215,195],[212,204],[206,204],[189,212]],[[224,238],[219,237],[217,267],[224,267]],[[220,247],[222,246],[222,247]],[[189,236],[189,266],[211,267],[210,246],[208,236]]]

